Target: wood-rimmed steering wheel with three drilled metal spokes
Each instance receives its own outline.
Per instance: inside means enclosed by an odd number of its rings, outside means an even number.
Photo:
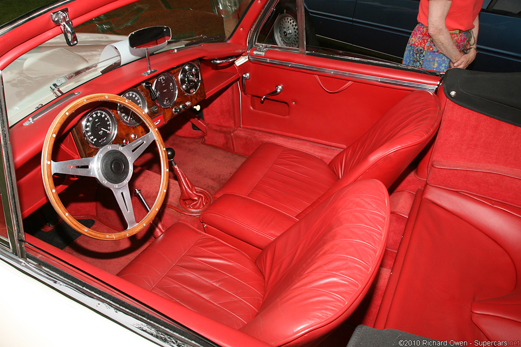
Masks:
[[[126,106],[143,120],[143,123],[146,124],[150,131],[126,146],[114,144],[106,145],[100,148],[96,152],[95,156],[90,158],[80,158],[59,162],[53,161],[51,156],[53,153],[54,142],[58,131],[64,124],[65,120],[77,109],[92,102],[99,101],[112,101]],[[152,205],[150,212],[145,215],[143,220],[136,222],[128,182],[132,177],[134,161],[153,141],[156,143],[161,162],[161,184],[157,198]],[[74,219],[70,213],[67,212],[58,197],[52,177],[53,174],[56,173],[95,177],[98,183],[111,189],[116,197],[119,208],[127,221],[127,229],[111,234],[100,233],[96,230],[85,227]],[[95,239],[119,240],[140,232],[140,230],[152,222],[156,214],[159,212],[159,208],[165,199],[168,186],[168,160],[165,144],[163,143],[163,139],[157,131],[154,122],[133,102],[113,94],[92,94],[69,104],[58,114],[54,122],[51,124],[51,128],[49,128],[43,143],[42,176],[43,185],[49,201],[61,219],[63,219],[73,229],[83,235]]]

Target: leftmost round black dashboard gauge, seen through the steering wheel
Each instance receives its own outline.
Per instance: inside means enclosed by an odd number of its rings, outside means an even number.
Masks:
[[[106,108],[89,112],[83,119],[83,136],[94,148],[108,145],[116,136],[116,119]]]

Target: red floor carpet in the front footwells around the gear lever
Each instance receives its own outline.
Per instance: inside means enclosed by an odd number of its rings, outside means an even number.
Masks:
[[[188,138],[172,135],[165,140],[167,147],[176,151],[176,163],[196,186],[203,187],[214,194],[231,176],[244,157],[228,151],[202,144],[202,138]],[[152,146],[151,146],[152,148]],[[157,196],[159,186],[159,160],[152,150],[146,151],[135,163],[134,174],[129,183],[131,192],[141,190],[149,205]],[[180,190],[177,181],[169,172],[169,186],[164,209],[159,216],[165,227],[177,221],[184,221],[202,230],[199,217],[187,216],[176,212],[180,208]],[[69,187],[60,197],[68,211],[76,219],[88,217],[96,221],[94,230],[113,233],[126,228],[113,193],[97,184],[94,179],[81,178]],[[136,219],[145,216],[145,210],[132,198]],[[148,243],[153,241],[153,230],[145,228],[137,235],[118,241],[102,241],[80,236],[64,250],[78,256],[110,273],[117,274],[128,262],[135,258]]]

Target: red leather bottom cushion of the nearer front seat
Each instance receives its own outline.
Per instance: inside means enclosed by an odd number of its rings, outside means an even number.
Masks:
[[[118,276],[239,329],[261,306],[264,276],[241,251],[176,223]]]

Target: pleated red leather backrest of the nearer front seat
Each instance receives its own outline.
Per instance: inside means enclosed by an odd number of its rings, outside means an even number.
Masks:
[[[240,330],[272,345],[300,345],[338,327],[376,275],[389,214],[386,187],[364,180],[340,189],[286,230],[256,260],[265,295]]]

